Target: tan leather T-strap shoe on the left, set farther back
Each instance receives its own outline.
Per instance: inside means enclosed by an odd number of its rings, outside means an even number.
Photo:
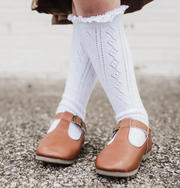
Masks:
[[[81,118],[69,112],[58,113],[54,119],[61,119],[57,127],[48,133],[40,142],[36,150],[36,159],[44,162],[58,164],[72,164],[81,150],[86,135],[86,125]],[[68,134],[71,122],[81,129],[78,140],[72,139]]]

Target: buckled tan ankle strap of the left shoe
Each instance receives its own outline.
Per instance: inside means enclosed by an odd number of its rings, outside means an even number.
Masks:
[[[77,115],[71,114],[70,112],[66,112],[66,113],[68,113],[68,114],[70,114],[70,115],[72,116],[71,122],[73,122],[73,123],[75,123],[76,125],[78,125],[78,126],[80,127],[80,129],[82,130],[83,134],[84,134],[84,135],[87,135],[86,124],[83,122],[83,120],[82,120],[80,117],[78,117]],[[64,115],[64,112],[62,112],[62,113],[57,113],[57,114],[54,116],[53,120],[55,120],[55,119],[62,119],[62,118],[63,118],[63,115]]]

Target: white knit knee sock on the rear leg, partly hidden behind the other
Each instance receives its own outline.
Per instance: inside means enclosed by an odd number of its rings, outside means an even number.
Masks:
[[[96,73],[86,52],[79,24],[74,23],[68,77],[65,91],[56,113],[68,111],[84,120],[86,106],[95,81]],[[54,130],[58,123],[59,120],[55,120],[48,132]],[[72,125],[73,123],[71,123],[70,128],[72,128]],[[72,132],[73,130],[75,129],[72,128]]]

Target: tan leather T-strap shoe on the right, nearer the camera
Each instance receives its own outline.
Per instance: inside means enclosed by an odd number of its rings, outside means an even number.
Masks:
[[[146,132],[147,139],[141,147],[136,147],[129,142],[131,126]],[[150,156],[152,149],[151,129],[139,121],[124,119],[116,125],[114,134],[114,140],[96,158],[96,172],[114,177],[135,175],[138,172],[140,162]]]

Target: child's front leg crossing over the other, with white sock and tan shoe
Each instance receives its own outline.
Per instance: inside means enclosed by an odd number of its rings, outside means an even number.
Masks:
[[[76,2],[81,1],[88,3],[87,0],[74,0],[75,6]],[[92,6],[93,9],[96,2],[101,2],[103,6],[106,5],[104,2],[113,5],[116,0],[89,2],[91,3],[87,7]],[[96,5],[101,7],[98,3]],[[86,11],[84,6],[81,8]],[[97,16],[90,12],[90,17],[85,18],[81,15],[69,16],[74,23],[80,23],[86,50],[119,122],[112,140],[96,158],[96,171],[102,175],[118,177],[136,174],[141,160],[148,158],[152,149],[148,115],[138,92],[122,23],[125,8],[112,8],[111,11]]]

